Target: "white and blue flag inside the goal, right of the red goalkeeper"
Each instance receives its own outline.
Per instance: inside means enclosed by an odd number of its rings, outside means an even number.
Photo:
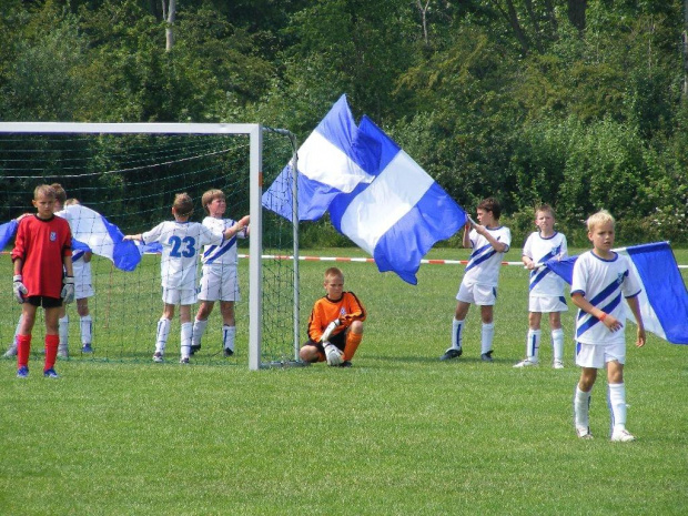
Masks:
[[[93,254],[109,259],[122,271],[133,271],[141,253],[131,241],[123,241],[120,229],[97,211],[81,204],[64,206],[60,215],[67,219],[72,237],[88,245]]]

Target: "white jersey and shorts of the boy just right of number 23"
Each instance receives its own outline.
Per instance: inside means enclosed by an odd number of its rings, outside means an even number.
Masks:
[[[206,216],[203,225],[213,233],[224,233],[236,224],[232,219],[215,219]],[[236,236],[225,240],[221,244],[206,245],[201,254],[203,262],[201,273],[201,301],[241,301],[239,291],[236,265],[239,261],[236,239],[246,237],[246,229]]]

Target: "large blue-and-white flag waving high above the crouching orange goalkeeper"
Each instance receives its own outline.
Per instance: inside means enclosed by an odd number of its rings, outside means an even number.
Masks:
[[[263,205],[292,219],[291,169],[263,195]],[[421,260],[456,233],[466,213],[367,117],[356,127],[346,95],[299,150],[299,220],[325,211],[334,227],[370,253],[381,272],[416,284]]]

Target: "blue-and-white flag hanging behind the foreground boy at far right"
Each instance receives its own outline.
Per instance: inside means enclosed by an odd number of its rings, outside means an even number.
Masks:
[[[670,343],[688,344],[688,291],[669,244],[655,242],[615,251],[630,259],[640,279],[638,302],[645,330]],[[549,260],[545,265],[570,284],[577,257]]]

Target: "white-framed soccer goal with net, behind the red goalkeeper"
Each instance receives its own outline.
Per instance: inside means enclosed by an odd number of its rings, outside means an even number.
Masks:
[[[295,156],[295,149],[289,131],[260,124],[0,122],[0,224],[34,212],[33,189],[41,183],[60,183],[68,199],[104,216],[123,234],[171,220],[172,202],[180,192],[192,196],[191,220],[201,222],[203,192],[220,189],[226,195],[225,217],[251,215],[249,237],[237,240],[241,301],[234,306],[235,353],[223,354],[223,317],[215,303],[202,347],[191,362],[247,363],[251,370],[297,364],[297,223],[276,216],[261,203],[263,184],[272,183]],[[2,250],[4,277],[12,274],[12,242]],[[98,253],[90,263],[94,295],[85,304],[93,353],[81,351],[84,307],[74,303],[67,308],[68,360],[150,361],[163,306],[160,254],[148,250],[129,271],[112,256]],[[7,348],[21,312],[9,286],[0,299],[4,299],[0,345]],[[192,307],[192,320],[196,308]],[[34,353],[42,347],[42,321],[37,321]],[[179,328],[176,312],[166,348],[171,358],[179,351]]]

